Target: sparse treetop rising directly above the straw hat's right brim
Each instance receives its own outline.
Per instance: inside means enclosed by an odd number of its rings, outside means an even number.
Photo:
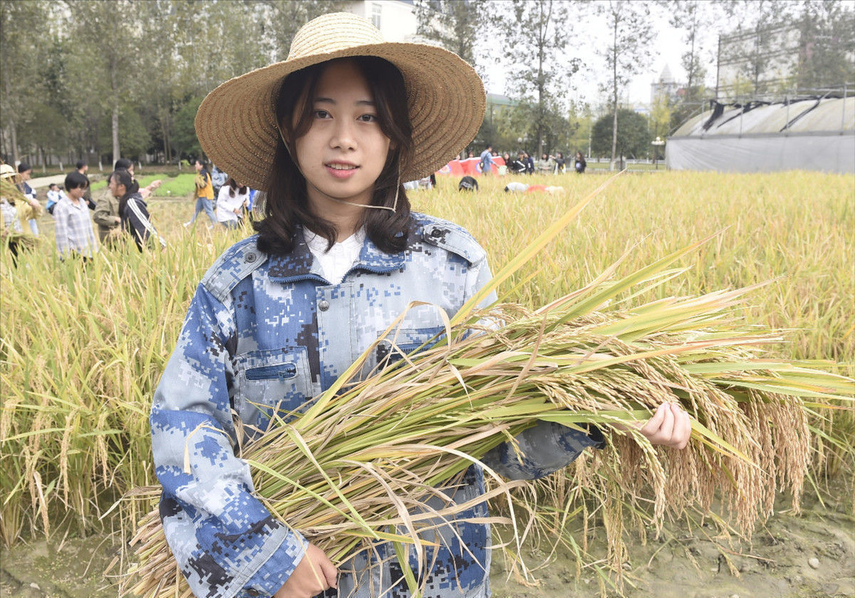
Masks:
[[[478,68],[475,43],[489,18],[486,0],[418,0],[416,34],[451,50]]]

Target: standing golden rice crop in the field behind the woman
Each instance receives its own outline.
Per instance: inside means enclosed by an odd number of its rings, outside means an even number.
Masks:
[[[532,177],[566,190],[548,196],[504,193],[507,181],[498,178],[480,181],[477,194],[462,194],[457,181],[440,178],[438,190],[410,197],[416,209],[469,228],[495,269],[601,180]],[[852,176],[798,172],[627,175],[540,252],[528,272],[512,275],[503,294],[529,307],[545,305],[583,287],[621,256],[625,271],[634,271],[722,232],[682,259],[683,275],[635,301],[772,281],[750,295],[744,310],[747,321],[785,331],[787,342],[767,346],[769,354],[833,360],[843,364],[840,373],[851,375],[852,186]],[[118,524],[130,533],[148,508],[127,502],[98,519],[130,488],[155,483],[150,397],[204,269],[240,235],[210,234],[203,227],[186,231],[180,224],[192,213],[189,200],[155,199],[150,210],[169,242],[165,252],[101,252],[85,267],[61,263],[50,217],[44,216],[45,238],[36,252],[21,258],[19,268],[11,267],[6,252],[0,254],[0,534],[5,544],[47,533],[60,522],[72,530]],[[812,438],[815,471],[842,469],[852,476],[853,421],[847,411],[811,415],[811,425],[826,437]],[[601,504],[608,494],[597,490],[596,482],[587,494],[584,489],[586,475],[598,477],[596,471],[586,474],[589,460],[580,459],[565,473],[575,477],[576,489],[567,495],[574,500],[587,495]],[[556,476],[552,483],[559,486],[562,479],[570,478]],[[563,504],[559,489],[548,492],[540,497],[546,500],[543,512],[581,508]],[[619,531],[610,535],[619,536]]]

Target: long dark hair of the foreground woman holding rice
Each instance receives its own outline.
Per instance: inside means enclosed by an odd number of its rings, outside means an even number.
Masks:
[[[391,208],[397,191],[398,207],[394,213],[390,210],[363,210],[360,224],[380,251],[401,252],[407,246],[410,233],[410,201],[399,181],[399,173],[410,163],[412,148],[412,125],[407,110],[404,77],[398,68],[382,58],[355,56],[339,60],[355,62],[368,81],[380,130],[392,141],[386,164],[374,183],[371,205]],[[286,130],[283,133],[291,140],[292,146],[293,139],[299,139],[311,127],[315,86],[330,62],[303,68],[282,81],[276,100],[276,120],[284,125]],[[296,125],[293,123],[295,120]],[[271,255],[290,253],[294,247],[297,226],[301,224],[324,237],[328,241],[327,248],[332,248],[338,231],[332,222],[310,210],[306,180],[288,153],[285,143],[279,139],[264,204],[264,219],[253,223],[258,232],[258,248]]]

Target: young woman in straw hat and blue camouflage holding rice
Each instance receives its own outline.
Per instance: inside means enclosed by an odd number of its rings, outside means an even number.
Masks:
[[[196,595],[409,595],[390,546],[337,570],[271,516],[235,456],[233,413],[257,435],[274,409],[328,388],[410,301],[432,304],[408,311],[398,333],[419,343],[442,329],[435,306],[451,315],[489,280],[475,240],[410,212],[401,185],[461,151],[484,109],[481,80],[457,56],[387,44],[348,14],[311,21],[285,62],[224,83],[199,107],[205,153],[266,203],[258,234],[203,276],[151,410],[163,528]],[[660,440],[679,443],[687,419],[676,416],[675,434],[668,412]],[[510,477],[545,475],[598,444],[592,436],[545,425],[517,439],[522,463],[508,447],[490,462]],[[489,595],[483,488],[473,466],[446,489],[470,506],[437,523],[443,542],[418,573],[426,598]]]

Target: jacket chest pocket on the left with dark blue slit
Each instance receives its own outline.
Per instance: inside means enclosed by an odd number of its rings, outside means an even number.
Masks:
[[[235,358],[235,378],[241,421],[263,428],[274,409],[290,419],[310,399],[309,353],[304,346],[244,353]]]

